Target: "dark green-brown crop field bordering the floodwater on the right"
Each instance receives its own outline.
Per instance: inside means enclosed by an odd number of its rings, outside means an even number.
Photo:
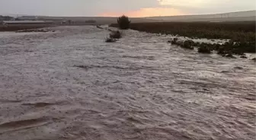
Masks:
[[[118,27],[117,24],[110,26]],[[194,49],[198,52],[210,54],[217,51],[223,57],[234,58],[233,54],[256,53],[256,23],[255,22],[172,22],[172,23],[131,23],[130,29],[146,33],[161,33],[173,36],[186,36],[191,39],[229,39],[221,44],[199,43],[192,40],[169,40],[171,44],[181,48]]]

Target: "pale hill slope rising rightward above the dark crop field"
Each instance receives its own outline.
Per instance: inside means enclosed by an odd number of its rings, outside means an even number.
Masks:
[[[145,18],[163,21],[256,21],[256,11],[238,11],[223,14],[199,14]]]

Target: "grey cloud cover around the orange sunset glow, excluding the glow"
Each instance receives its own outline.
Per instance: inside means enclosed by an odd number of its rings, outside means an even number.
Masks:
[[[159,0],[0,0],[0,14],[97,16],[104,12],[125,13],[159,7],[175,8],[188,14],[209,14],[256,9],[255,0],[207,0],[206,5],[197,8],[175,5],[175,2],[180,1],[173,1],[173,5],[159,5]]]

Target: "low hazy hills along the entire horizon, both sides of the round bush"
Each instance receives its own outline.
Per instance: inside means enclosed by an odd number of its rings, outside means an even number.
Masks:
[[[53,20],[53,21],[86,21],[95,20],[98,24],[109,24],[117,23],[117,17],[49,17],[49,16],[33,16],[33,15],[21,15],[21,14],[3,14],[13,17],[31,17],[36,20]],[[14,16],[16,15],[16,16]],[[144,22],[171,22],[171,21],[256,21],[256,10],[255,11],[238,11],[223,14],[198,14],[198,15],[182,15],[182,16],[165,16],[165,17],[132,17],[130,18],[133,23],[144,23]]]

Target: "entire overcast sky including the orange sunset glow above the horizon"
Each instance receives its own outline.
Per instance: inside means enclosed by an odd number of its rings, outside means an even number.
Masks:
[[[0,14],[168,16],[256,10],[256,0],[0,0]]]

